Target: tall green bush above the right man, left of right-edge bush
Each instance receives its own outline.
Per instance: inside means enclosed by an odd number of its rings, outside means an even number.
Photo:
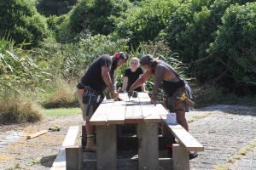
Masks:
[[[164,35],[185,63],[205,58],[225,9],[234,3],[247,2],[252,0],[185,0],[170,15]]]

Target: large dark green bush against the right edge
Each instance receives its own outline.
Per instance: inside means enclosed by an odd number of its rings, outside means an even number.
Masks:
[[[217,31],[215,42],[212,42],[209,52],[218,70],[224,71],[221,81],[228,86],[230,82],[237,87],[256,86],[256,3],[246,5],[232,5],[226,10],[222,18],[223,25]],[[220,73],[220,72],[219,72]],[[232,85],[230,86],[232,87]],[[244,92],[244,90],[241,90]]]

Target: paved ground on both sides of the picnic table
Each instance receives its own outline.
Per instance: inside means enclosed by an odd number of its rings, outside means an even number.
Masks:
[[[189,132],[206,148],[191,161],[191,169],[256,169],[255,117],[256,107],[241,105],[213,105],[189,112]],[[80,125],[81,120],[81,116],[49,116],[42,122],[0,126],[0,169],[49,169],[68,127]],[[56,125],[61,131],[26,139],[28,133]],[[255,145],[240,156],[239,150],[253,141]],[[231,160],[232,156],[240,159]]]

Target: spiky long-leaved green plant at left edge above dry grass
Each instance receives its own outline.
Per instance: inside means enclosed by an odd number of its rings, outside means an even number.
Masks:
[[[31,58],[30,50],[24,50],[25,43],[15,46],[13,40],[0,40],[0,89],[19,91],[20,87],[34,89],[47,81],[48,73],[38,67]],[[1,93],[0,92],[0,93]]]

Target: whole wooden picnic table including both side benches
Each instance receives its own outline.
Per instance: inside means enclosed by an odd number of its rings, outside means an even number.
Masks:
[[[119,94],[119,97],[123,100],[104,99],[90,118],[90,124],[96,126],[96,160],[94,161],[96,162],[96,169],[116,170],[119,168],[117,126],[136,124],[137,168],[139,170],[189,170],[189,151],[203,151],[203,145],[178,123],[174,125],[167,124],[166,115],[168,111],[163,105],[151,105],[147,93],[138,93],[137,98],[131,99],[128,98],[127,94]],[[167,167],[161,167],[160,165],[159,122],[166,125],[166,132],[163,132],[162,135],[164,136],[164,133],[166,136],[173,135],[177,141],[177,144],[172,144],[172,158],[167,158]],[[85,124],[82,125],[82,138],[84,128]],[[76,134],[78,130],[79,128],[76,128]],[[69,136],[66,136],[66,138],[70,139]],[[73,139],[75,138],[73,137]],[[57,158],[61,157],[61,159],[55,160],[52,169],[62,169],[59,167],[66,166],[67,170],[87,170],[87,167],[84,167],[86,161],[84,162],[85,157],[83,158],[81,145],[64,144],[63,147],[66,147],[66,154],[64,150],[59,152]],[[63,161],[65,159],[66,161]]]

